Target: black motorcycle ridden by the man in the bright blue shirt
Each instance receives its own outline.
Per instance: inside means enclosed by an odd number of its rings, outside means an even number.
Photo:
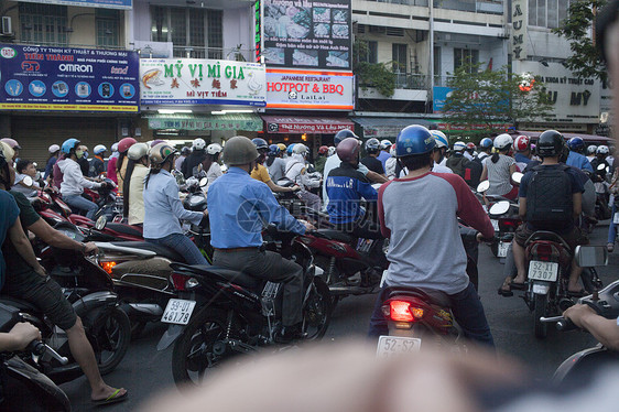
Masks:
[[[304,270],[304,340],[321,339],[330,321],[327,285],[315,274],[310,249],[293,234],[275,234],[267,249]],[[279,245],[278,245],[279,243]],[[180,299],[170,300],[161,318],[170,327],[158,350],[174,343],[172,372],[177,386],[200,382],[207,369],[276,343],[281,329],[283,288],[279,283],[210,265],[174,263],[171,275]]]

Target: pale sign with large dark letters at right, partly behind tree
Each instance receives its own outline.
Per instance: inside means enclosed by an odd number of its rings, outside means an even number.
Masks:
[[[597,123],[599,121],[600,82],[595,78],[578,78],[560,63],[549,62],[540,67],[539,62],[518,62],[519,73],[531,73],[543,82],[552,105],[550,118],[555,122]],[[543,68],[543,69],[542,69]],[[514,71],[515,72],[515,71]]]

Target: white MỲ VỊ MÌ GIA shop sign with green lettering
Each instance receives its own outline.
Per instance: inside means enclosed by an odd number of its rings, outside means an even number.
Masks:
[[[140,59],[142,105],[267,105],[264,66],[199,58]]]

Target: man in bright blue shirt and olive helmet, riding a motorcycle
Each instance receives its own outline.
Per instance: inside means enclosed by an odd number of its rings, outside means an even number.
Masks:
[[[245,137],[231,138],[224,148],[228,173],[208,188],[213,263],[284,284],[284,327],[278,338],[285,343],[301,334],[303,269],[279,253],[265,251],[261,232],[269,224],[298,235],[312,226],[292,217],[267,184],[250,177],[258,156],[256,145]]]

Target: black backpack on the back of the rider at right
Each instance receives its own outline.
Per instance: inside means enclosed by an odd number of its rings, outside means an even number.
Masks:
[[[526,191],[526,221],[536,229],[561,229],[574,220],[569,166],[535,166]]]

